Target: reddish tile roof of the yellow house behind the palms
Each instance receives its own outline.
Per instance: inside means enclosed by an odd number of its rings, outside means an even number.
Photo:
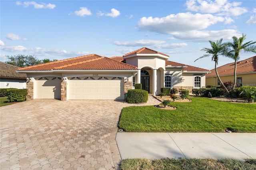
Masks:
[[[234,74],[234,63],[228,63],[217,68],[218,74],[228,75]],[[243,61],[237,61],[236,63],[236,74],[246,73],[246,72],[256,72],[256,56]],[[216,76],[215,69],[211,70],[211,73],[207,74],[206,77]]]

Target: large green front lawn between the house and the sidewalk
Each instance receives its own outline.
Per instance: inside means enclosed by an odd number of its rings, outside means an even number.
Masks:
[[[176,110],[124,107],[118,126],[127,132],[256,132],[256,104],[191,99],[172,102]]]

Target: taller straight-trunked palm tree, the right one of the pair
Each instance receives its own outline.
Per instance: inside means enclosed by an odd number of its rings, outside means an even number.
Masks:
[[[225,43],[228,46],[228,52],[225,54],[226,57],[229,57],[231,59],[234,59],[234,83],[232,86],[232,89],[235,90],[236,87],[236,61],[240,59],[240,51],[244,52],[253,52],[256,53],[256,46],[253,45],[256,43],[256,41],[249,41],[247,43],[244,43],[244,40],[246,39],[246,35],[242,35],[242,37],[237,38],[236,36],[232,37],[233,42]]]

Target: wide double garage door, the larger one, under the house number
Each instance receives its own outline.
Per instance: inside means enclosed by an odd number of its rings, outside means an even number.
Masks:
[[[118,77],[72,77],[69,100],[124,100],[123,79]]]

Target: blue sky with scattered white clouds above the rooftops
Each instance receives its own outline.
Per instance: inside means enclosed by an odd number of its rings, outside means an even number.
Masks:
[[[0,61],[6,55],[68,59],[122,56],[148,47],[169,60],[213,69],[202,48],[246,34],[256,41],[255,0],[0,1]],[[256,54],[241,53],[240,60]],[[220,57],[218,66],[232,63]]]

